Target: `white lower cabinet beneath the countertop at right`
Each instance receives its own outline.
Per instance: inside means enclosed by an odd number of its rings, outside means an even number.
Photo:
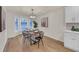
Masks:
[[[79,33],[65,32],[64,46],[74,51],[79,51]]]

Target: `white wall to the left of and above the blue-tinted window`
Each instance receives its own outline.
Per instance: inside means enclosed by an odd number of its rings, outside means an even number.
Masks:
[[[15,37],[19,35],[21,32],[15,31],[15,18],[16,17],[26,17],[21,14],[13,13],[13,12],[7,12],[7,37]]]

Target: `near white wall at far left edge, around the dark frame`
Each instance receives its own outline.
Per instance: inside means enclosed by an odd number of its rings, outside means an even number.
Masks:
[[[2,7],[2,12],[3,12],[3,10],[4,10],[4,8]],[[4,17],[4,14],[2,13],[2,18],[3,17]],[[6,17],[5,17],[5,22],[6,22]],[[5,44],[7,42],[7,26],[6,25],[7,24],[5,23],[6,29],[4,31],[0,32],[0,52],[2,52],[4,50]]]

